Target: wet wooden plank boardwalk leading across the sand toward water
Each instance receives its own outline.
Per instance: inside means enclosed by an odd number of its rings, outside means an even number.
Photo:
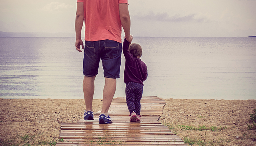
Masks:
[[[93,121],[61,123],[60,139],[56,146],[187,146],[168,127],[157,122],[165,101],[159,97],[142,97],[141,121],[130,122],[125,97],[113,99],[109,115],[113,123],[99,124],[98,111]]]

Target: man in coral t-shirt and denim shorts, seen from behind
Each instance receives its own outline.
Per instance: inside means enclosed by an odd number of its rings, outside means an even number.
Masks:
[[[81,29],[85,23],[85,47],[81,40]],[[83,91],[86,110],[85,120],[94,120],[92,100],[94,80],[98,74],[99,61],[102,60],[105,86],[103,89],[100,124],[111,123],[108,110],[116,92],[116,78],[119,78],[121,65],[121,27],[125,38],[131,43],[131,20],[128,11],[128,0],[77,0],[76,12],[76,49],[84,50]]]

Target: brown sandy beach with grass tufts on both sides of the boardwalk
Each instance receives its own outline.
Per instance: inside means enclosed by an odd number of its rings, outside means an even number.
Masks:
[[[188,145],[256,145],[256,130],[248,130],[256,100],[164,100],[160,122]],[[101,106],[94,99],[94,112]],[[84,109],[83,99],[0,99],[0,145],[55,145],[61,123],[82,119]]]

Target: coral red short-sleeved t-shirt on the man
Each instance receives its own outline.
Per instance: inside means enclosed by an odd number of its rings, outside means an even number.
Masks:
[[[122,42],[119,4],[128,0],[77,0],[84,3],[85,41]]]

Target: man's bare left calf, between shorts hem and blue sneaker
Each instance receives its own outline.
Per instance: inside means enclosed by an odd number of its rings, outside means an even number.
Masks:
[[[84,76],[83,91],[86,111],[92,111],[92,100],[94,95],[94,80],[96,76]]]

